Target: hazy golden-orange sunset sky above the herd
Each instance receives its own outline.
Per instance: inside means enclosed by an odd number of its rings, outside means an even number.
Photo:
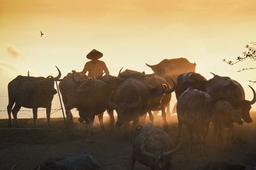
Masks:
[[[145,62],[186,57],[196,62],[196,72],[205,78],[212,78],[209,72],[230,76],[243,85],[246,99],[253,97],[247,85],[256,79],[255,71],[237,70],[255,67],[255,62],[229,66],[222,59],[236,60],[244,46],[256,40],[256,1],[0,0],[0,4],[0,110],[6,110],[7,85],[17,75],[29,71],[31,76],[55,76],[54,66],[63,76],[73,69],[81,71],[93,48],[104,54],[101,60],[113,75],[121,67],[152,73]],[[58,108],[57,97],[52,104]],[[0,112],[0,118],[6,117]]]

